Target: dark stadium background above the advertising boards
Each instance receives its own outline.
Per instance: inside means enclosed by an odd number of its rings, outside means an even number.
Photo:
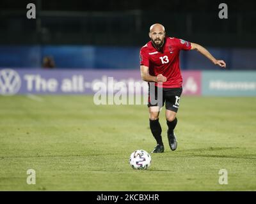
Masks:
[[[26,5],[36,4],[36,19],[26,18]],[[228,5],[228,19],[218,18],[218,5]],[[81,59],[81,51],[69,57],[76,62],[60,60],[57,68],[112,68],[138,69],[138,50],[148,41],[148,27],[159,22],[166,27],[168,36],[199,43],[227,61],[228,69],[256,69],[256,10],[255,1],[13,1],[0,2],[0,67],[35,68],[47,55],[38,52],[41,61],[31,60],[28,51],[20,46],[90,46],[99,48],[99,61]],[[20,55],[13,59],[13,47]],[[22,49],[23,48],[23,49]],[[28,47],[26,47],[28,48]],[[51,47],[52,48],[52,47]],[[70,47],[65,47],[70,49]],[[119,54],[113,65],[104,63],[104,54]],[[8,53],[10,52],[10,54]],[[46,53],[45,53],[46,52]],[[63,52],[63,50],[62,50]],[[71,52],[71,51],[70,51]],[[135,53],[136,52],[136,53]],[[221,52],[221,54],[220,54]],[[9,57],[8,57],[9,56]],[[102,59],[103,57],[103,59]],[[81,62],[80,62],[81,61]],[[215,69],[207,59],[182,54],[182,69]],[[74,62],[74,63],[73,63]],[[72,64],[73,63],[73,64]]]

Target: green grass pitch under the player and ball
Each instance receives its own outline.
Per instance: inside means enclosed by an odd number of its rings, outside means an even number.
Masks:
[[[148,170],[129,156],[156,145],[146,105],[93,104],[92,96],[0,96],[1,191],[255,191],[256,98],[180,100],[178,148]],[[28,169],[36,184],[28,185]],[[228,184],[218,183],[219,170]]]

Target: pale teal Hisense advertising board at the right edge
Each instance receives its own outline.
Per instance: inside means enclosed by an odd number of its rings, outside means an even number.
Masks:
[[[203,96],[256,96],[256,71],[203,71]]]

